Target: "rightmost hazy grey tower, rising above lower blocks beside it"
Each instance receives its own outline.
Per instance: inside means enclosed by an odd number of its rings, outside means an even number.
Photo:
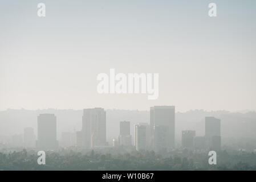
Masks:
[[[205,117],[206,146],[213,150],[221,150],[221,119]]]

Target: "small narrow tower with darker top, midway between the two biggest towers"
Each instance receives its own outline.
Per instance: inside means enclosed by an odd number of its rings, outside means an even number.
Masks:
[[[121,121],[120,122],[120,135],[118,137],[119,145],[121,146],[131,146],[132,136],[130,134],[130,122]]]

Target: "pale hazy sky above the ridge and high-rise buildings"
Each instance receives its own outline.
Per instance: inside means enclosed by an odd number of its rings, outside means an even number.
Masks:
[[[0,110],[256,110],[255,9],[255,0],[2,0]],[[96,76],[110,68],[159,73],[159,99],[98,94]]]

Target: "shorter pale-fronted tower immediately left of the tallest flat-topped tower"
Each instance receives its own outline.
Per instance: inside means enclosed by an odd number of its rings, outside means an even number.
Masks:
[[[151,128],[148,123],[139,123],[134,127],[134,143],[136,150],[147,150],[151,144]]]

